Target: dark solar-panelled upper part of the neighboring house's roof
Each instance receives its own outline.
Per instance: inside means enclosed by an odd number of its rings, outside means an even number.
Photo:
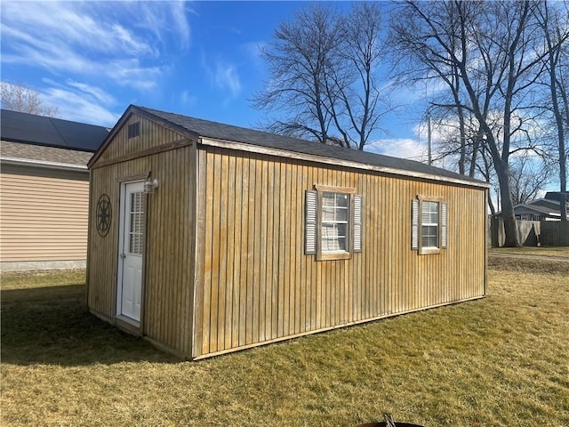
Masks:
[[[107,138],[104,126],[86,125],[60,118],[0,110],[2,141],[95,152]]]

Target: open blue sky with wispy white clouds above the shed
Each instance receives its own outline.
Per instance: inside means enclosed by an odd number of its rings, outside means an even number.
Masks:
[[[259,48],[303,2],[28,2],[1,8],[2,81],[26,85],[60,118],[112,127],[130,105],[255,127],[268,82]],[[349,4],[337,3],[339,7]],[[398,91],[369,149],[418,158],[421,93]],[[414,112],[413,112],[414,111]],[[421,134],[422,133],[422,134]]]

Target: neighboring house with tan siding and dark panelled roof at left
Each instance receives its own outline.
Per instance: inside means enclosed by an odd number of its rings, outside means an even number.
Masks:
[[[84,268],[86,165],[108,129],[5,109],[0,124],[0,268]]]

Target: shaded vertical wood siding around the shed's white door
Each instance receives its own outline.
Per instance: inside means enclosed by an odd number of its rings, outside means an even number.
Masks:
[[[141,122],[140,139],[148,147],[160,146],[180,135],[161,133]],[[124,143],[127,127],[116,135],[108,149],[124,154],[115,146]],[[147,157],[92,168],[90,251],[88,262],[88,305],[102,318],[114,322],[118,257],[120,180],[151,173],[159,181],[156,192],[147,197],[147,230],[144,252],[143,308],[141,334],[180,354],[191,353],[195,230],[195,146],[164,151]],[[105,151],[103,154],[108,154]],[[106,157],[108,160],[112,157]],[[100,160],[103,160],[101,157]],[[96,230],[96,205],[106,193],[112,202],[112,223],[108,235]]]

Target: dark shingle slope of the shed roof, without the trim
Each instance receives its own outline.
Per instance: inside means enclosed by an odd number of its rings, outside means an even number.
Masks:
[[[304,141],[283,135],[245,129],[243,127],[233,125],[224,125],[199,118],[180,116],[178,114],[167,113],[156,109],[133,107],[170,122],[173,125],[180,126],[191,133],[196,133],[197,136],[225,141],[244,142],[269,149],[284,149],[312,156],[330,157],[364,165],[381,166],[415,173],[428,173],[430,175],[437,175],[455,180],[484,184],[484,182],[474,180],[468,176],[453,173],[438,167],[425,165],[413,160],[407,160],[405,158],[383,156],[381,154],[359,151],[357,149],[344,149],[341,147],[320,144],[318,142]]]

